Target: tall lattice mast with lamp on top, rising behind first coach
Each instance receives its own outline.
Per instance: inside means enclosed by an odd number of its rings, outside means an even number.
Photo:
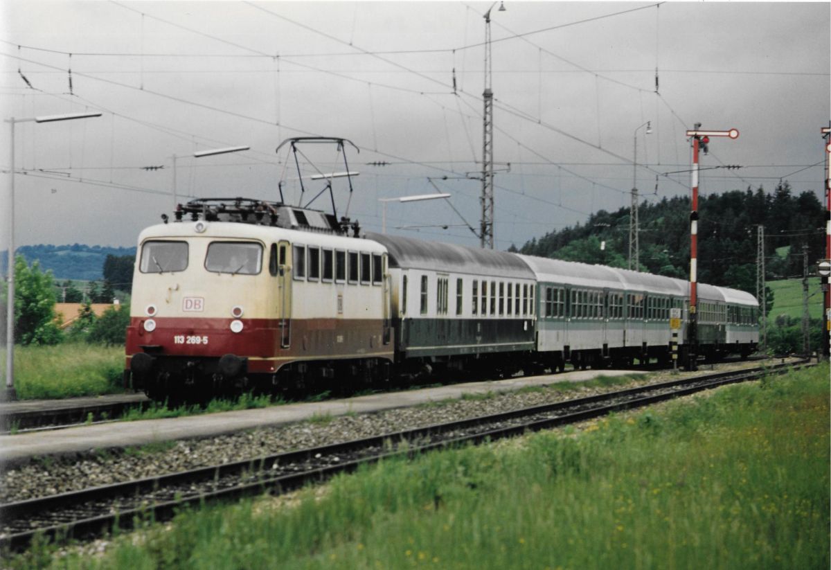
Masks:
[[[479,247],[494,248],[494,91],[490,88],[493,62],[490,57],[490,11],[484,12],[484,135],[482,140],[482,221],[479,226]],[[499,12],[505,11],[503,2]]]

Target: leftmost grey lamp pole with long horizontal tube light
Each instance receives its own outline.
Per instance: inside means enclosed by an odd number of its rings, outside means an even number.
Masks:
[[[8,267],[7,273],[7,307],[6,307],[6,389],[0,400],[16,400],[14,391],[14,125],[17,123],[52,123],[58,120],[88,119],[100,117],[99,112],[67,113],[66,115],[42,115],[15,119],[11,117],[6,122],[11,127],[12,138],[9,141],[9,184],[8,184]]]

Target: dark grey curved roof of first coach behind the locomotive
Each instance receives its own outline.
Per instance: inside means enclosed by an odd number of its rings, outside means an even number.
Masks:
[[[390,267],[428,271],[472,273],[505,278],[534,278],[534,272],[513,253],[493,249],[466,248],[454,243],[428,242],[421,239],[381,233],[366,237],[384,245],[389,251]]]

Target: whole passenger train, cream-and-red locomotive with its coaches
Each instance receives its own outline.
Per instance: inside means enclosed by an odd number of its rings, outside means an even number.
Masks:
[[[140,233],[125,381],[156,400],[484,371],[563,371],[688,351],[688,283],[378,233],[253,199],[199,199]],[[350,234],[351,233],[351,234]],[[747,356],[755,297],[700,284],[697,353]]]

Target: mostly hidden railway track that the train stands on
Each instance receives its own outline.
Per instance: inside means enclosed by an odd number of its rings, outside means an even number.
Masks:
[[[765,360],[763,356],[751,356],[746,361]],[[741,361],[730,358],[719,361],[719,364]],[[705,366],[705,365],[702,365]],[[635,367],[638,371],[662,370],[663,366],[649,365]],[[50,400],[42,402],[42,407],[32,410],[7,410],[0,413],[0,435],[7,435],[12,431],[25,433],[38,430],[59,430],[77,425],[88,425],[117,420],[128,410],[147,410],[150,400],[115,401],[106,403],[86,402],[75,405],[71,400]]]

